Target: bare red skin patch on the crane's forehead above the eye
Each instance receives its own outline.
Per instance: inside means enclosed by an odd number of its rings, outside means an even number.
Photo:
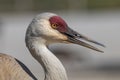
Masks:
[[[57,24],[57,30],[60,32],[66,32],[67,31],[67,24],[66,22],[60,18],[59,16],[53,16],[49,19],[50,24]]]

